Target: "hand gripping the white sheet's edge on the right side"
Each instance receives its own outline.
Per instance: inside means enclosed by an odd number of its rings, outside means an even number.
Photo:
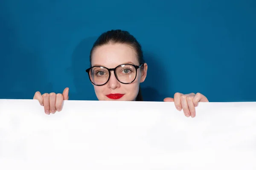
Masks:
[[[200,93],[197,93],[197,94],[175,93],[174,98],[167,97],[163,101],[174,102],[177,110],[181,111],[181,109],[183,109],[183,112],[187,117],[189,116],[195,117],[195,107],[198,106],[198,102],[209,102],[206,96]]]

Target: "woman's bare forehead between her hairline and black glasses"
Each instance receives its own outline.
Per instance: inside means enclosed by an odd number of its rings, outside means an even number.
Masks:
[[[137,54],[127,44],[115,43],[106,44],[94,49],[92,54],[92,66],[102,65],[114,68],[117,65],[133,63],[139,65]]]

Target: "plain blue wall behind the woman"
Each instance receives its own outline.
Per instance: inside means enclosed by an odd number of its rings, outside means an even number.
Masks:
[[[256,101],[255,0],[1,0],[0,98],[69,87],[70,99],[96,100],[85,69],[110,29],[142,44],[148,101],[175,92]]]

